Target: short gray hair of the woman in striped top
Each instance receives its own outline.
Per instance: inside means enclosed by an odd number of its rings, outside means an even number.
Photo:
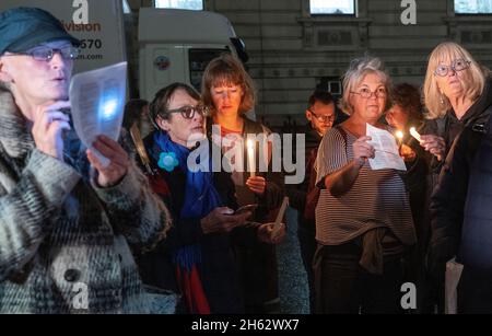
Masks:
[[[389,99],[389,92],[391,92],[391,79],[386,73],[383,61],[377,57],[364,56],[355,58],[350,62],[349,69],[343,74],[343,94],[340,99],[338,106],[348,115],[352,115],[353,107],[350,104],[350,93],[361,83],[364,77],[368,73],[376,73],[385,84],[386,92],[386,106],[387,111],[391,106]]]

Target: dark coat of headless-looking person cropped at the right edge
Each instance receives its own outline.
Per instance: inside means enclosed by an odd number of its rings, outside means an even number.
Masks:
[[[464,265],[458,313],[492,313],[492,127],[467,126],[456,139],[432,197],[430,266],[456,255]]]

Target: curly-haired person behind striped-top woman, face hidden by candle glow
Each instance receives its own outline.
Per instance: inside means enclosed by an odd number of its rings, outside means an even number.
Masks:
[[[410,197],[413,223],[415,225],[417,244],[412,248],[407,266],[409,281],[417,285],[417,312],[433,313],[438,300],[440,287],[429,279],[425,268],[425,253],[431,234],[431,218],[429,204],[433,184],[429,176],[432,174],[430,162],[434,155],[426,152],[419,141],[409,132],[411,127],[422,132],[427,120],[423,119],[423,106],[420,91],[417,86],[401,83],[391,93],[393,106],[386,113],[387,123],[402,132],[400,154],[405,159],[407,173],[405,174],[407,190]]]

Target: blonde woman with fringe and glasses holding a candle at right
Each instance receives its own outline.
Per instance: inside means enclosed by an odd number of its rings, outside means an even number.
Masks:
[[[435,189],[444,159],[464,127],[484,125],[492,105],[492,86],[489,71],[481,68],[468,50],[456,43],[442,43],[431,53],[423,88],[424,102],[430,117],[422,131],[421,142],[434,158],[430,179]],[[436,136],[436,137],[432,137]],[[432,213],[431,213],[432,215]],[[432,215],[434,216],[434,215]],[[444,308],[445,262],[436,263],[433,242],[438,236],[432,219],[432,233],[427,259],[430,276],[441,287],[440,312]]]

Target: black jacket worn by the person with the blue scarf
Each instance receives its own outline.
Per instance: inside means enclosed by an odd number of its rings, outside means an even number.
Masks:
[[[151,166],[157,172],[150,178],[154,192],[164,200],[173,217],[173,225],[167,237],[153,251],[140,255],[138,264],[145,285],[179,292],[175,266],[171,252],[184,245],[200,244],[202,263],[199,265],[201,283],[212,313],[243,313],[244,300],[241,290],[238,266],[233,246],[253,244],[257,240],[257,225],[248,224],[234,229],[231,233],[204,234],[200,218],[181,219],[186,194],[186,174],[176,169],[167,172],[159,169],[153,152],[160,152],[151,134],[144,139],[150,153]],[[234,183],[226,172],[213,173],[213,184],[224,206],[237,209]]]

